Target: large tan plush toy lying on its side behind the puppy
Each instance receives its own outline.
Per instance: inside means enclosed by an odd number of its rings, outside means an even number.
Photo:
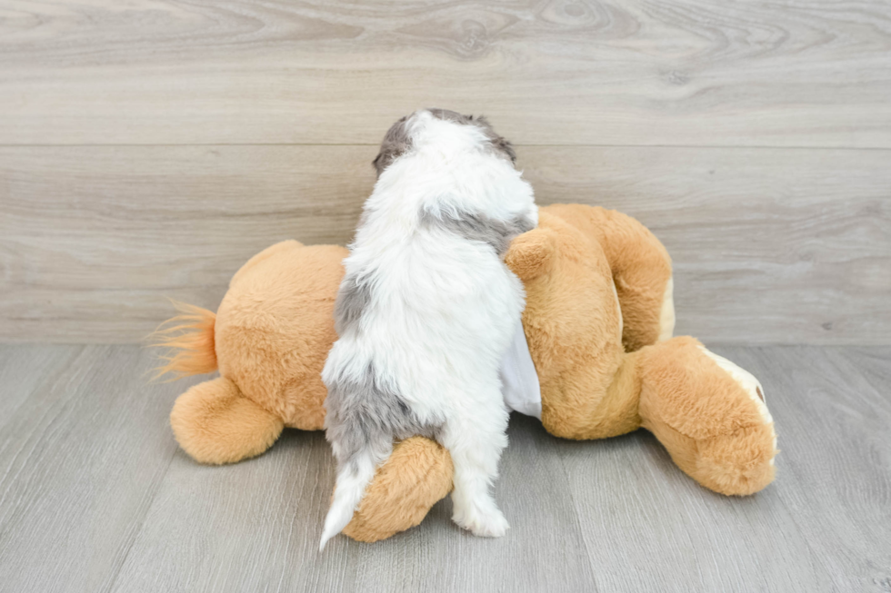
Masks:
[[[347,251],[280,242],[245,263],[214,314],[185,306],[159,345],[162,371],[219,369],[170,414],[180,446],[204,463],[267,450],[284,427],[322,430],[320,372],[336,339],[333,310]],[[656,435],[687,475],[727,495],[774,478],[776,435],[761,386],[693,338],[672,338],[671,262],[636,220],[577,204],[541,209],[507,265],[526,286],[523,326],[556,437]],[[452,487],[448,452],[415,437],[378,470],[345,534],[387,538],[424,519]]]

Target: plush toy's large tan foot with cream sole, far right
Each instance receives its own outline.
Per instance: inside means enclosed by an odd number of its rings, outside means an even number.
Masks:
[[[642,425],[707,489],[757,492],[774,479],[776,434],[747,371],[681,337],[641,351]]]

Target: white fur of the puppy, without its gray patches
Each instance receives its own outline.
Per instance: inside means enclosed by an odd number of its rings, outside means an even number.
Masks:
[[[523,217],[535,226],[538,211],[529,183],[487,148],[475,125],[424,111],[409,125],[414,147],[381,174],[345,260],[347,274],[374,287],[363,329],[340,336],[322,376],[326,384],[344,376],[359,381],[374,362],[419,420],[441,427],[437,439],[455,463],[453,519],[476,535],[499,537],[508,524],[490,487],[508,414],[498,369],[525,294],[490,246],[425,226],[421,212]],[[389,453],[369,450],[357,471],[342,463],[322,548],[352,518]]]

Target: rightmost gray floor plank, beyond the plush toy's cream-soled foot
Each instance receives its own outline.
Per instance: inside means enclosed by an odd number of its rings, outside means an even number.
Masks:
[[[891,589],[891,351],[716,349],[764,382],[786,436],[781,504],[838,591]]]

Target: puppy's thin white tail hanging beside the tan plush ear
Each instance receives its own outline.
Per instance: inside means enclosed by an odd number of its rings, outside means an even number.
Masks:
[[[363,449],[350,455],[337,470],[335,495],[325,517],[325,529],[319,542],[320,552],[325,549],[328,540],[343,531],[353,519],[353,513],[365,495],[365,488],[375,477],[377,466],[393,452],[391,440],[381,440],[375,445],[366,444]]]

